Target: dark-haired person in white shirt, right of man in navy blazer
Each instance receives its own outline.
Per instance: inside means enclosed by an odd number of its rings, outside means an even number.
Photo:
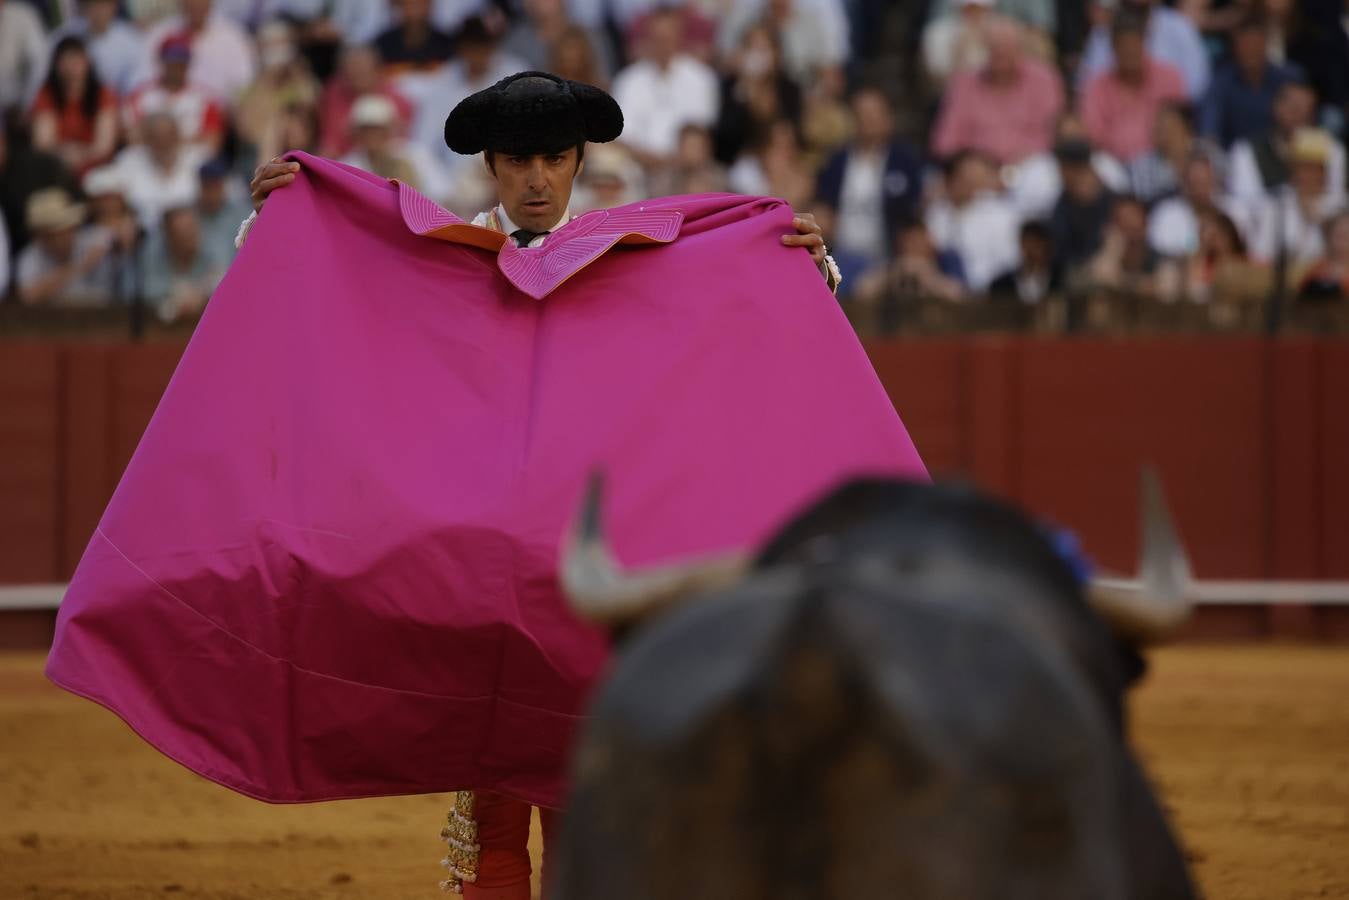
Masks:
[[[928,205],[927,229],[939,250],[955,251],[970,290],[982,294],[1020,262],[1021,219],[998,190],[993,161],[975,150],[944,166],[943,197]]]

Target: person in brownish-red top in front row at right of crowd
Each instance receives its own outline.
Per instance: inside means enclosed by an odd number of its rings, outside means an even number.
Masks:
[[[1269,270],[1246,256],[1236,223],[1217,210],[1199,216],[1198,251],[1168,263],[1159,274],[1163,300],[1210,304],[1214,324],[1230,325],[1249,316],[1272,285]]]

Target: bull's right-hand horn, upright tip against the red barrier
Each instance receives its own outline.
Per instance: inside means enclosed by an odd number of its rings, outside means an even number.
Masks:
[[[1141,472],[1139,576],[1094,578],[1087,599],[1110,626],[1143,642],[1160,641],[1190,618],[1190,561],[1176,536],[1161,479]]]

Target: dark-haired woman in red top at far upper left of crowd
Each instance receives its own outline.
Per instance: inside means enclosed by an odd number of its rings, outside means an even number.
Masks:
[[[117,99],[104,88],[80,38],[62,38],[32,104],[32,146],[82,175],[117,146]]]

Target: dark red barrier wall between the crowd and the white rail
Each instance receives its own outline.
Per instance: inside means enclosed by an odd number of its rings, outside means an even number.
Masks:
[[[1132,568],[1137,468],[1151,460],[1199,575],[1349,578],[1349,340],[867,351],[934,474],[1075,529],[1105,565]],[[69,578],[181,352],[0,343],[0,583]],[[1313,613],[1279,615],[1299,629]]]

